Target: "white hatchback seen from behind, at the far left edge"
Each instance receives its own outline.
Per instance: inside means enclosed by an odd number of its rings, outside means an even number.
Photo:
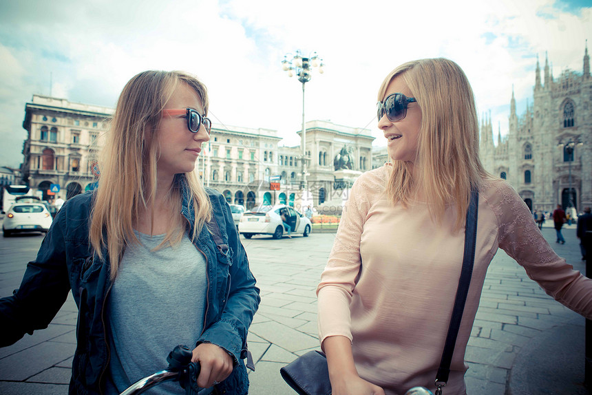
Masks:
[[[52,226],[52,215],[47,211],[45,204],[39,203],[14,203],[10,206],[2,231],[4,237],[13,233],[43,232],[47,233]]]

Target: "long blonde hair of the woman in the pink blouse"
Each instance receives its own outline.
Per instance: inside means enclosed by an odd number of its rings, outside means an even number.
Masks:
[[[390,81],[400,77],[421,108],[418,153],[412,164],[394,161],[387,196],[407,206],[417,191],[428,199],[430,214],[441,221],[454,204],[458,231],[465,223],[471,186],[479,188],[490,175],[479,159],[479,127],[475,99],[467,76],[445,58],[420,59],[395,68],[384,79],[378,100]]]

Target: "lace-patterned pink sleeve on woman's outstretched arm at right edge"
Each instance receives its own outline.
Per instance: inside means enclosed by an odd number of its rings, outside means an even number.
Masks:
[[[592,317],[592,280],[559,257],[542,236],[520,195],[506,182],[485,186],[485,199],[498,220],[500,248],[548,295],[586,318]]]

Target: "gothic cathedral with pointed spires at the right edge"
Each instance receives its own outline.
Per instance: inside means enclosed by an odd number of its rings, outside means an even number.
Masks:
[[[557,204],[566,208],[571,200],[580,213],[592,206],[592,78],[587,43],[582,74],[567,69],[554,78],[545,56],[541,78],[537,58],[533,99],[518,116],[512,89],[509,132],[502,138],[498,130],[497,145],[491,120],[482,120],[480,154],[485,169],[507,179],[531,210],[553,211]],[[570,141],[582,144],[570,151],[566,145]]]

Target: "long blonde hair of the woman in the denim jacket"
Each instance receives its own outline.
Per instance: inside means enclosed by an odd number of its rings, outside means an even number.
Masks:
[[[106,248],[112,279],[117,276],[125,247],[138,243],[134,222],[154,203],[160,148],[158,125],[162,109],[180,83],[195,89],[207,115],[207,89],[197,78],[177,71],[147,71],[125,85],[109,122],[105,147],[99,157],[101,175],[94,196],[89,242],[101,259],[105,258],[103,248]],[[187,185],[187,200],[193,203],[189,207],[195,215],[192,239],[198,237],[204,223],[211,219],[211,203],[195,171],[176,175],[166,199],[178,217],[173,218],[173,226],[160,246],[176,244],[182,239],[185,228],[180,215],[182,184]]]

